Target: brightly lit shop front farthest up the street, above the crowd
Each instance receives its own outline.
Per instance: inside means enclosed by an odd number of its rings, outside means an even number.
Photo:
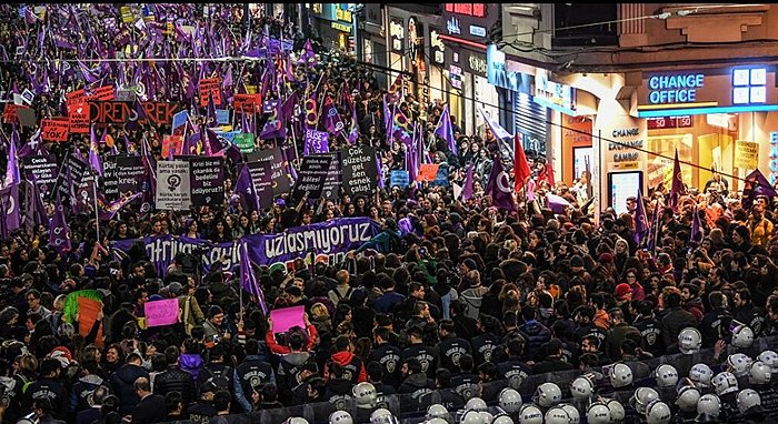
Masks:
[[[355,53],[353,8],[356,3],[310,3],[313,31],[325,46]]]

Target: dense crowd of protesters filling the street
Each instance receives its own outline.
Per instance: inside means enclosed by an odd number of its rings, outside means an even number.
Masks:
[[[124,44],[99,31],[98,23],[113,17],[124,31],[134,23],[122,23],[119,8],[109,4],[78,10],[49,6],[42,19],[29,9],[20,12],[18,6],[1,8],[6,101],[12,101],[13,92],[34,89],[29,78],[32,63],[41,63],[54,51],[50,31],[58,31],[51,27],[59,21],[53,17],[77,12],[79,24],[91,23],[94,37],[110,46],[110,52],[123,51]],[[188,13],[188,24],[202,28],[239,16],[228,6],[213,7],[210,17],[193,6],[170,10]],[[236,38],[232,47],[238,49],[245,29],[230,28]],[[266,29],[271,37],[286,33],[295,38],[296,52],[305,42],[277,18],[259,18],[253,28]],[[73,31],[70,37],[74,44],[88,41],[84,33]],[[170,39],[173,47],[179,42]],[[26,50],[13,55],[20,46]],[[215,44],[207,48],[215,49]],[[157,58],[164,54],[161,43],[152,50]],[[226,423],[257,411],[337,404],[339,398],[356,396],[355,387],[365,382],[379,395],[410,394],[418,411],[429,406],[426,396],[436,392],[439,403],[450,411],[465,408],[471,397],[505,406],[505,392],[495,391],[489,383],[503,381],[502,387],[518,390],[520,381],[531,375],[582,374],[605,366],[610,374],[600,375],[595,386],[601,387],[605,381],[614,386],[611,391],[635,390],[634,364],[700,349],[714,350],[716,362],[708,364],[708,371],[714,370],[717,378],[719,372],[734,372],[738,377],[732,391],[731,383],[717,385],[710,383],[710,376],[707,385],[705,378],[689,375],[686,380],[684,370],[681,380],[698,394],[712,392],[720,397],[721,412],[706,410],[700,413],[705,420],[768,422],[778,414],[777,380],[770,383],[764,373],[761,378],[741,378],[756,374],[751,370],[759,366],[768,366],[767,374],[778,372],[778,355],[748,357],[745,374],[736,362],[745,360],[734,357],[738,349],[750,345],[738,337],[748,339],[749,332],[754,340],[778,335],[775,199],[762,195],[745,202],[717,175],[702,191],[687,190],[675,209],[669,205],[670,193],[656,189],[646,199],[628,200],[626,213],[617,214],[610,208],[595,211],[585,179],[566,186],[549,178],[543,158],[531,158],[535,195],[528,200],[522,193],[515,198],[512,210],[498,209],[485,189],[493,161],[502,160],[512,174],[512,159],[505,160],[501,141],[488,129],[480,135],[462,132],[460,122],[451,117],[457,141],[453,152],[433,134],[442,102],[421,104],[411,93],[403,95],[399,109],[422,123],[430,159],[449,166],[451,185],[465,185],[466,171],[473,164],[472,196],[461,201],[451,188],[427,183],[390,186],[389,171],[406,169],[407,147],[386,134],[382,101],[387,90],[378,81],[387,77],[348,55],[316,50],[318,63],[296,67],[296,81],[290,85],[301,92],[306,80],[317,81],[323,73],[323,93],[336,98],[347,84],[358,105],[357,143],[380,152],[386,189],[372,196],[343,195],[299,204],[283,194],[267,210],[243,210],[229,195],[225,204],[189,212],[126,208],[99,226],[93,211],[87,210],[69,218],[73,251],[64,255],[48,243],[46,224],[33,226],[31,233],[24,226],[10,232],[0,243],[0,408],[6,422]],[[61,54],[51,60],[91,54],[82,49],[58,52]],[[258,67],[247,65],[241,75],[248,79],[258,72]],[[83,85],[78,78],[67,85],[52,78],[32,101],[38,119],[60,114],[61,94]],[[189,105],[178,98],[171,101]],[[342,105],[339,109],[343,121],[350,121],[350,113]],[[205,108],[200,115],[205,117]],[[39,137],[36,127],[3,123],[4,145],[12,131],[20,131],[18,148]],[[169,124],[108,129],[113,140],[127,137],[129,143],[114,144],[120,153],[137,154],[142,140],[148,140],[157,160],[164,160],[161,138],[167,133]],[[73,149],[86,153],[88,142],[88,135],[71,135],[68,142],[46,143],[44,149],[62,161]],[[257,149],[291,142],[291,137],[257,140]],[[342,135],[331,137],[330,149],[345,145],[348,141]],[[110,151],[109,145],[100,147],[101,155]],[[231,160],[227,163],[226,190],[231,193],[236,166]],[[299,160],[291,165],[299,166]],[[546,193],[570,205],[552,210]],[[635,236],[639,202],[651,223],[650,238]],[[51,215],[53,201],[47,198],[44,205]],[[695,213],[699,228],[694,228]],[[291,267],[257,267],[270,309],[305,306],[305,327],[292,327],[282,335],[272,333],[272,323],[248,295],[241,296],[237,270],[212,266],[203,274],[192,270],[191,258],[179,255],[160,277],[142,245],[121,261],[110,252],[110,242],[116,240],[189,234],[228,242],[341,216],[371,218],[382,232],[349,253],[343,263],[310,265],[301,258]],[[698,231],[704,236],[691,242],[692,232]],[[646,248],[647,239],[652,240],[651,249]],[[77,290],[101,293],[98,321],[87,334],[79,332],[78,315],[67,320],[63,312],[68,293]],[[181,307],[178,324],[142,325],[146,302],[173,297]],[[618,385],[617,378],[627,378],[627,371],[619,367],[625,364],[631,366],[629,382]],[[661,378],[656,374],[648,385]],[[752,398],[742,405],[736,398],[740,393],[744,398],[750,395],[748,387],[758,392],[761,406]],[[547,412],[555,403],[542,401],[550,393],[548,386],[531,388],[520,394],[525,398],[535,394],[537,408],[551,422]],[[570,388],[562,391],[557,403],[569,397]],[[650,415],[640,402],[624,403],[624,408],[636,422],[694,422],[698,417],[700,406],[696,401],[694,407],[680,402],[680,387],[679,402],[675,394],[662,400],[664,406],[651,404],[648,410],[671,411],[666,421],[651,421],[656,414]],[[596,408],[588,406],[580,406],[578,413],[596,422]],[[588,408],[594,411],[591,416]],[[513,413],[521,422],[532,422],[522,420],[519,411]],[[612,411],[608,414],[614,422],[619,420],[610,415]],[[572,413],[569,416],[572,422]],[[467,414],[462,421],[466,418]]]

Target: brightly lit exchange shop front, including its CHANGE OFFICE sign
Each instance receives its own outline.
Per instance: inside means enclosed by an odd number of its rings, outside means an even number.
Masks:
[[[645,169],[649,189],[670,185],[676,150],[684,182],[704,188],[712,176],[745,178],[759,169],[778,178],[774,137],[778,131],[778,88],[771,67],[644,72],[637,90],[637,115],[646,121]],[[774,163],[775,162],[775,163]],[[726,176],[725,176],[726,178]],[[728,179],[730,190],[741,190]],[[735,181],[731,181],[735,180]]]

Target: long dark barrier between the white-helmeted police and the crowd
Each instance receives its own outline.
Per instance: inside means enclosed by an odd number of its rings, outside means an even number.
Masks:
[[[720,361],[726,362],[729,354],[740,352],[745,353],[751,359],[756,359],[759,353],[765,350],[776,350],[778,349],[778,336],[760,337],[754,341],[754,344],[745,350],[738,350],[732,346],[727,346],[727,349],[721,352]],[[671,364],[678,370],[680,377],[688,375],[689,369],[698,363],[708,364],[715,373],[718,373],[719,366],[714,362],[714,350],[704,349],[698,353],[686,355],[686,354],[674,354],[665,355],[647,361],[640,362],[627,362],[632,369],[635,386],[652,386],[654,370],[661,364]],[[607,367],[607,366],[606,366]],[[605,373],[607,370],[604,367],[595,369],[594,371],[599,373]],[[576,405],[579,411],[582,411],[581,423],[586,423],[586,405],[577,403],[571,396],[569,391],[569,384],[577,376],[581,375],[582,372],[579,370],[566,371],[566,372],[555,372],[545,373],[538,375],[530,375],[523,380],[519,386],[519,392],[525,403],[531,402],[532,394],[535,390],[542,383],[556,383],[562,390],[562,395],[565,398],[562,402]],[[485,384],[485,388],[481,397],[483,401],[490,405],[490,411],[496,412],[493,406],[498,404],[498,396],[502,388],[508,386],[507,380],[500,380],[492,383]],[[632,415],[634,412],[628,406],[629,398],[632,396],[634,387],[622,391],[609,391],[608,385],[598,386],[599,394],[604,397],[615,398],[619,401],[627,410],[628,416]],[[604,393],[605,392],[605,393]],[[668,391],[659,391],[662,398],[666,396],[671,396],[669,402],[675,401],[675,387]],[[670,393],[671,392],[671,393]],[[369,423],[370,414],[378,407],[386,407],[391,411],[395,416],[398,417],[399,424],[418,424],[426,418],[427,407],[431,404],[440,402],[439,392],[432,392],[428,395],[421,397],[418,402],[410,394],[396,394],[379,397],[379,404],[373,408],[360,408],[357,407],[352,398],[340,400],[337,403],[321,402],[311,403],[301,406],[289,406],[283,408],[267,410],[252,412],[249,414],[233,414],[229,416],[230,424],[281,424],[287,418],[292,416],[301,416],[308,420],[310,424],[327,424],[329,422],[329,416],[332,412],[345,410],[348,411],[353,417],[355,423]],[[456,416],[456,411],[450,411],[452,417]],[[516,416],[515,416],[516,418]],[[518,423],[518,420],[515,420]],[[178,421],[180,424],[194,423],[192,421]]]

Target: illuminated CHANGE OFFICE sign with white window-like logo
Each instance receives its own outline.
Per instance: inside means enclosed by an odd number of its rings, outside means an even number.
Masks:
[[[639,118],[778,111],[776,73],[764,65],[646,72],[637,109]]]

